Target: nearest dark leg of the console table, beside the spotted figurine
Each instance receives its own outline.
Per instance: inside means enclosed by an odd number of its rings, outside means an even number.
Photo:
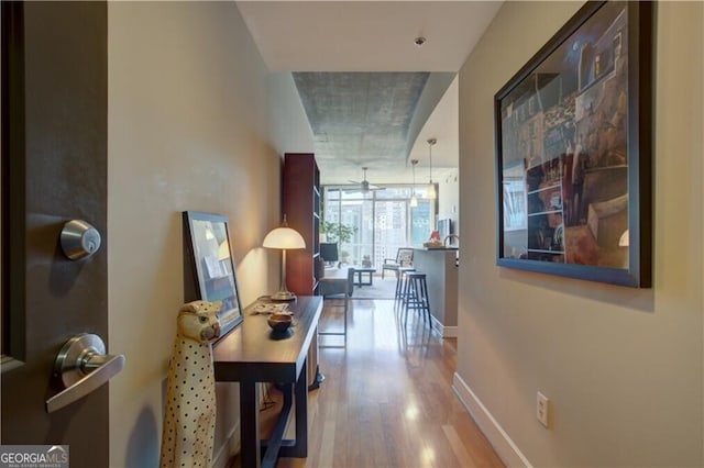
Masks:
[[[240,382],[240,444],[242,467],[258,468],[262,461],[260,446],[260,387],[256,382]]]

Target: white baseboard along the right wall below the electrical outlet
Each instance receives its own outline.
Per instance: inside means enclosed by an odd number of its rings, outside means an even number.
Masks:
[[[490,413],[486,406],[476,398],[470,386],[468,386],[457,372],[454,372],[452,380],[452,390],[454,390],[454,393],[470,412],[476,425],[480,426],[494,447],[494,450],[496,450],[507,467],[532,468],[530,461],[528,461],[526,456],[518,449],[514,441],[510,439],[508,434],[506,434],[494,416],[492,416],[492,413]]]

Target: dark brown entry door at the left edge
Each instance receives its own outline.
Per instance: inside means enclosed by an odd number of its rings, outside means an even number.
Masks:
[[[6,445],[69,445],[72,467],[109,465],[108,385],[53,413],[59,349],[108,338],[107,4],[2,2],[2,425]],[[72,261],[58,238],[102,235]],[[120,376],[118,376],[120,377]]]

